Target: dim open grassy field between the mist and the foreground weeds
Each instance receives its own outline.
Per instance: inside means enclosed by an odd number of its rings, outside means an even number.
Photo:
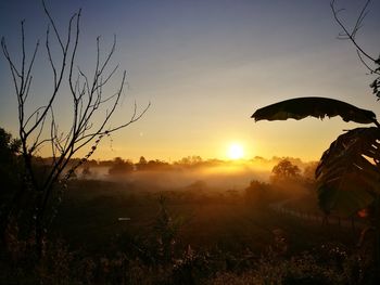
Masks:
[[[166,197],[165,207],[170,217],[180,220],[176,234],[180,248],[217,246],[224,250],[250,248],[261,252],[274,242],[276,230],[287,235],[294,251],[331,239],[354,243],[357,237],[351,229],[275,212],[267,204],[248,200],[244,192],[141,192],[136,185],[105,181],[75,182],[61,205],[53,232],[74,246],[98,250],[123,234],[150,236],[160,216],[161,195]],[[307,209],[302,202],[302,209]],[[313,205],[312,209],[315,208]],[[118,221],[118,218],[130,220]]]

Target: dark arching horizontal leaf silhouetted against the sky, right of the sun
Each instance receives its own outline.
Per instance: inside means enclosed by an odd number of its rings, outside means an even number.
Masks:
[[[257,120],[303,119],[308,116],[325,118],[340,116],[344,121],[359,124],[377,122],[371,111],[355,107],[349,103],[328,98],[297,98],[286,100],[257,109],[252,118]]]

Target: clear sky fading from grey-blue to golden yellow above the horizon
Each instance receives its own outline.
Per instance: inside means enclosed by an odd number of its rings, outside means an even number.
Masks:
[[[349,26],[364,3],[337,1],[345,8],[341,16]],[[47,0],[47,5],[62,33],[71,15],[83,9],[77,65],[85,73],[94,66],[96,38],[101,36],[105,52],[116,35],[112,65],[127,72],[128,85],[112,126],[129,119],[135,101],[139,109],[151,103],[139,121],[101,142],[96,159],[225,159],[237,143],[244,158],[317,160],[337,135],[357,125],[339,118],[254,122],[251,115],[297,96],[333,98],[380,114],[369,88],[373,79],[354,47],[337,39],[341,30],[329,0]],[[377,57],[380,2],[372,1],[369,10],[357,41]],[[0,0],[0,35],[18,60],[22,20],[30,54],[36,39],[45,41],[48,20],[40,1]],[[33,70],[29,112],[43,105],[52,90],[47,60],[42,44]],[[119,80],[121,73],[104,92],[114,92]],[[71,122],[68,92],[63,90],[54,106],[65,130]],[[17,104],[4,56],[0,127],[16,137]],[[43,150],[41,155],[50,154]]]

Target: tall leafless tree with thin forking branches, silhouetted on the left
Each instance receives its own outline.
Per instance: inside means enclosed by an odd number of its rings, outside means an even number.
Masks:
[[[80,67],[76,67],[81,10],[78,10],[69,18],[66,35],[63,35],[59,31],[43,0],[42,7],[49,21],[45,48],[52,73],[52,90],[46,105],[35,108],[31,113],[27,112],[27,106],[30,107],[28,102],[30,101],[33,67],[36,54],[40,49],[40,42],[37,41],[28,57],[25,44],[25,23],[23,21],[21,23],[21,64],[17,65],[18,57],[11,56],[5,39],[1,39],[1,48],[9,63],[18,103],[18,135],[26,169],[24,179],[27,186],[17,195],[31,194],[30,206],[34,210],[33,223],[39,255],[42,252],[43,233],[49,220],[51,220],[51,217],[47,215],[50,207],[48,205],[53,202],[53,197],[61,199],[65,181],[79,164],[91,156],[104,135],[110,135],[137,121],[150,106],[148,104],[139,112],[135,102],[134,112],[129,119],[111,127],[110,120],[119,107],[126,83],[126,72],[124,70],[116,90],[112,94],[103,92],[104,88],[111,82],[111,78],[118,70],[118,65],[110,69],[110,61],[116,47],[116,37],[114,37],[112,48],[103,56],[103,60],[101,60],[100,37],[97,38],[96,68],[91,75],[86,74]],[[53,44],[51,43],[52,40],[54,41]],[[58,51],[53,49],[55,42],[59,47]],[[65,92],[71,94],[73,117],[69,128],[62,131],[55,116],[56,105],[54,103],[60,94]],[[51,150],[53,159],[48,170],[40,177],[33,165],[33,157],[42,147]],[[71,157],[83,147],[89,147],[87,155],[66,171],[65,168]],[[60,182],[61,185],[56,186],[56,182]],[[17,216],[17,212],[9,212],[7,215],[8,219],[11,216]]]

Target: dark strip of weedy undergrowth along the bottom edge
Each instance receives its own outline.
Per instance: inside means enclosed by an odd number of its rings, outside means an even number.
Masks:
[[[150,264],[125,251],[88,255],[71,250],[64,242],[48,242],[40,264],[28,257],[0,261],[2,284],[373,284],[363,257],[342,245],[325,244],[292,257],[270,249],[261,256],[237,256],[223,250],[187,249],[168,263]],[[236,265],[231,265],[235,263]],[[12,267],[13,270],[10,270]],[[244,268],[245,267],[245,268]]]

